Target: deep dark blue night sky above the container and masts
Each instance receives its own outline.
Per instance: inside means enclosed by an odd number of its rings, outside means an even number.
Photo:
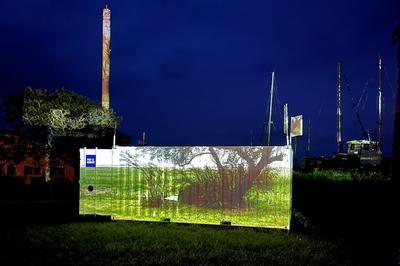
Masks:
[[[380,53],[383,150],[390,155],[399,1],[8,1],[0,13],[1,95],[64,86],[100,101],[105,4],[111,106],[132,143],[146,131],[154,145],[261,144],[275,69],[272,143],[284,144],[287,102],[290,115],[304,115],[305,131],[311,120],[312,153],[332,154],[336,64],[355,101],[368,96],[360,114],[374,136]],[[343,138],[362,138],[343,90]],[[305,144],[306,136],[298,139],[300,150]]]

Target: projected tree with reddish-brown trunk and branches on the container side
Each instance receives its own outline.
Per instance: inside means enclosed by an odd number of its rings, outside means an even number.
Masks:
[[[151,158],[145,162],[144,157]],[[211,208],[246,208],[245,194],[253,186],[267,188],[271,170],[267,166],[283,160],[271,147],[147,147],[140,154],[123,154],[129,166],[143,170],[150,185],[153,203],[162,203],[163,182],[157,182],[162,169],[157,162],[178,166],[185,182],[178,200]],[[186,169],[189,169],[186,170]],[[193,177],[185,178],[190,172]]]

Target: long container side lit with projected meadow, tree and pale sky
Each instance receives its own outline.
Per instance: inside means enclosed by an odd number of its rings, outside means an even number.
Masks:
[[[81,214],[289,227],[291,169],[284,147],[130,147],[112,156],[113,166],[81,165]]]

